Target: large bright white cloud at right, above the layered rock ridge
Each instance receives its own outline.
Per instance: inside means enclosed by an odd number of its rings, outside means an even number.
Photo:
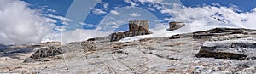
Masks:
[[[238,13],[234,6],[203,6],[203,7],[185,7],[175,5],[173,9],[163,9],[162,14],[170,14],[172,17],[165,20],[176,20],[189,23],[193,29],[205,30],[214,27],[241,27],[256,28],[256,12]],[[208,28],[207,28],[208,27]]]

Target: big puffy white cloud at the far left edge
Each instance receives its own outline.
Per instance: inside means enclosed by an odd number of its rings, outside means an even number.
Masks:
[[[40,43],[55,26],[55,20],[46,18],[28,3],[20,0],[0,0],[0,43]]]

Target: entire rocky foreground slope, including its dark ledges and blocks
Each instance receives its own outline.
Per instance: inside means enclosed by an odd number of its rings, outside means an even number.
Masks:
[[[255,54],[256,30],[215,28],[126,43],[5,48],[0,73],[255,74]]]

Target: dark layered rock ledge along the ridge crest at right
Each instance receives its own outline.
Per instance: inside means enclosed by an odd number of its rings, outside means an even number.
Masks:
[[[184,37],[193,37],[194,39],[206,40],[227,40],[242,37],[256,37],[256,30],[243,29],[243,28],[213,28],[207,31],[196,31],[193,33],[177,34],[169,39]]]

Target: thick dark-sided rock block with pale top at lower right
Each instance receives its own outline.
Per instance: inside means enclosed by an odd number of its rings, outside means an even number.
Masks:
[[[256,38],[241,38],[225,41],[207,41],[201,46],[197,57],[244,60],[256,54]]]

